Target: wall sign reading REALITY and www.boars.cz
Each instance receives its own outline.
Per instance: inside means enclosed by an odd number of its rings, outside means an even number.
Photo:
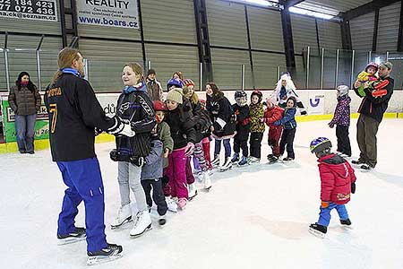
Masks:
[[[76,3],[78,23],[139,28],[136,0],[81,0]]]

